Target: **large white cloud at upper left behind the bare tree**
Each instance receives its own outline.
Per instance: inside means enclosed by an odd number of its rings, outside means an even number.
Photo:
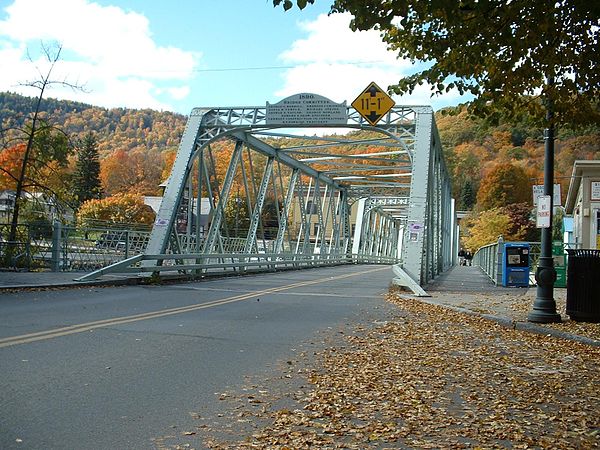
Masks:
[[[0,21],[0,90],[27,95],[17,87],[36,78],[27,50],[40,41],[58,41],[63,52],[53,79],[80,83],[88,93],[53,89],[49,96],[101,106],[174,109],[185,98],[199,53],[158,45],[148,19],[115,6],[89,0],[15,0]],[[43,60],[34,58],[43,70]]]

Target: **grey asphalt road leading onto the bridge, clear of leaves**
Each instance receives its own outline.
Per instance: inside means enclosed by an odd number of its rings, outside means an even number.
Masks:
[[[219,393],[385,316],[390,267],[0,293],[0,448],[149,449]]]

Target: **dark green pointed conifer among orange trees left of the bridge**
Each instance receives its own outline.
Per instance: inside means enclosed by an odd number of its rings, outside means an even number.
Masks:
[[[98,143],[92,132],[85,135],[77,152],[73,191],[80,205],[87,200],[100,198],[102,194]]]

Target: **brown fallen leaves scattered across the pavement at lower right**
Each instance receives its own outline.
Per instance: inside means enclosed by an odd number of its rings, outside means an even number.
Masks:
[[[238,396],[226,418],[233,428],[250,423],[248,436],[204,445],[600,446],[600,348],[399,295],[389,300],[398,311],[387,323],[357,330],[345,345],[324,350],[318,369],[290,368],[290,374],[307,377],[300,389],[301,380],[288,385],[293,402],[282,406],[283,394],[277,398],[254,386]]]

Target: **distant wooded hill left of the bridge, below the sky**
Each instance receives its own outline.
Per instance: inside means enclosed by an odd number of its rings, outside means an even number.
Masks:
[[[22,125],[35,108],[35,98],[0,92],[0,124],[3,129]],[[183,134],[187,117],[151,109],[101,108],[69,100],[47,98],[41,111],[70,137],[88,131],[97,135],[98,150],[106,156],[115,150],[175,149]]]

